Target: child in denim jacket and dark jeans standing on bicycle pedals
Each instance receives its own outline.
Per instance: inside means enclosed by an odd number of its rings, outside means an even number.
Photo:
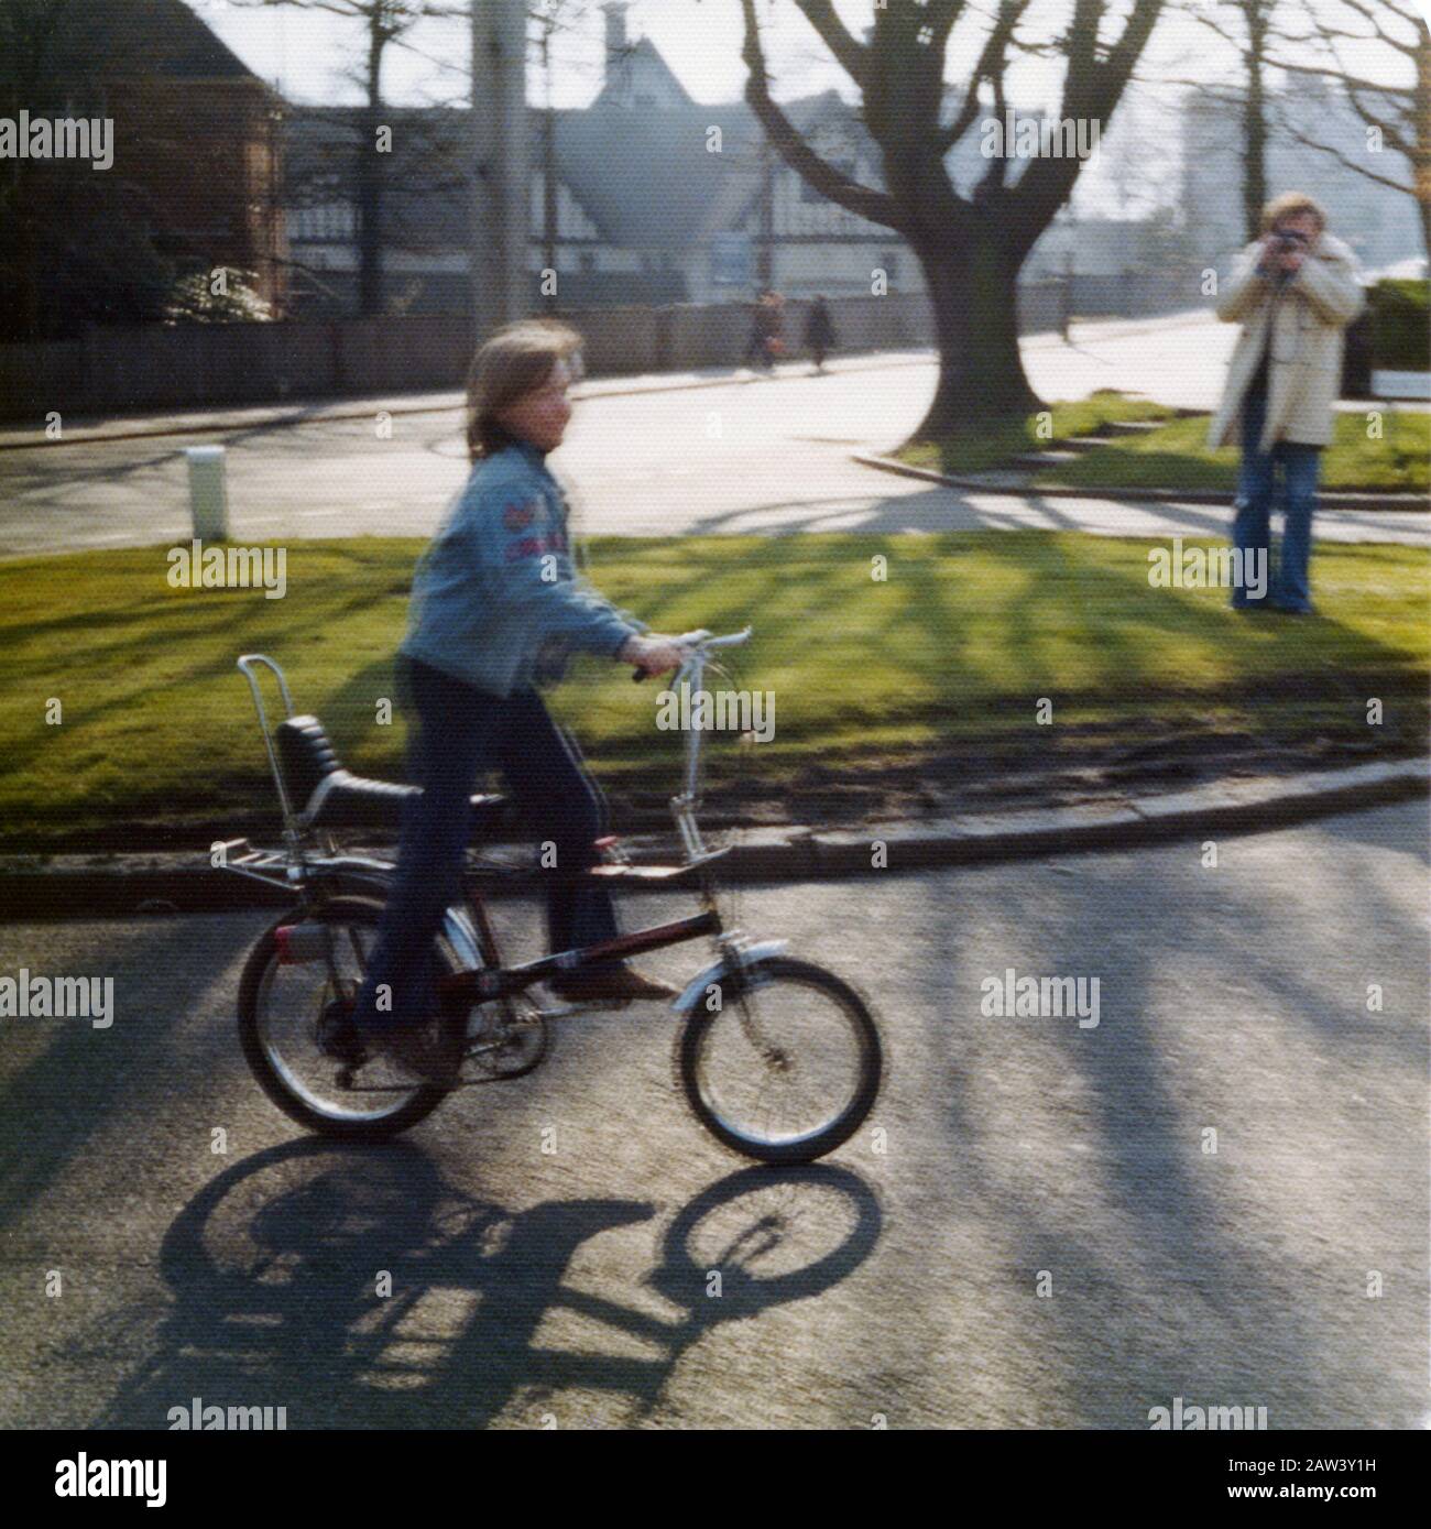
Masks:
[[[556,953],[618,934],[610,893],[567,879],[599,861],[601,787],[575,740],[547,713],[538,687],[561,677],[572,650],[677,668],[673,639],[644,635],[576,575],[567,506],[546,456],[572,416],[567,388],[581,339],[560,324],[523,321],[477,353],[468,384],[472,472],[413,579],[399,682],[417,731],[410,774],[422,795],[404,809],[398,872],[353,1021],[370,1050],[427,1083],[449,1083],[420,1024],[430,1014],[433,942],[460,893],[471,836],[471,794],[501,771],[529,829],[550,839],[547,939]],[[624,963],[553,979],[566,1000],[673,997]]]

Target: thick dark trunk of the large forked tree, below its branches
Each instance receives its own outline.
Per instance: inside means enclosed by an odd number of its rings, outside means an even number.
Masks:
[[[1043,407],[1018,350],[1020,261],[988,223],[969,237],[919,240],[939,338],[939,385],[914,440],[972,434],[995,419],[1018,419]]]

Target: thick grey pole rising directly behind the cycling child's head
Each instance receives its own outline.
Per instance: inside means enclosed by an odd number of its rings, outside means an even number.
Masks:
[[[526,8],[521,0],[471,6],[472,318],[480,344],[531,307]]]

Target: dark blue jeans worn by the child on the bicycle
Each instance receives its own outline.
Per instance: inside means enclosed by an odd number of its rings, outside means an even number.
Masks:
[[[399,657],[399,680],[405,709],[416,714],[408,775],[422,795],[404,806],[398,875],[353,1012],[358,1024],[368,1026],[431,1012],[433,942],[443,911],[462,896],[463,852],[472,832],[469,797],[494,766],[526,826],[556,847],[547,888],[552,953],[619,933],[604,887],[556,879],[599,861],[593,841],[607,832],[607,804],[575,740],[552,722],[541,696],[535,690],[518,690],[506,699],[488,696],[405,657]],[[390,1009],[375,1009],[379,985],[390,989]]]

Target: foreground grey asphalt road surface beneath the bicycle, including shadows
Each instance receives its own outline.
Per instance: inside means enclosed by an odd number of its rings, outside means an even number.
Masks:
[[[745,927],[853,977],[890,1053],[868,1128],[793,1174],[702,1131],[659,1008],[338,1150],[238,1053],[261,916],[0,927],[0,972],[116,992],[102,1031],[0,1021],[0,1427],[164,1428],[200,1398],[289,1428],[1141,1430],[1177,1396],[1414,1427],[1426,829],[1414,803],[1215,867],[1174,844],[748,890]],[[1009,966],[1098,977],[1098,1026],[983,1017]]]

